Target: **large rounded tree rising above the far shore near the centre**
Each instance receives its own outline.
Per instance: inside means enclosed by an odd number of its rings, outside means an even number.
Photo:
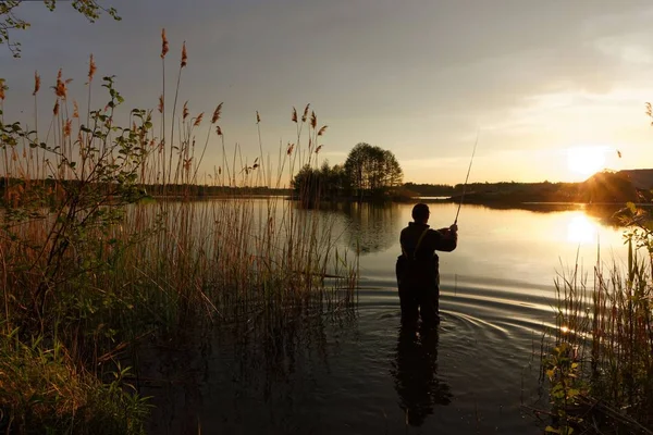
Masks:
[[[402,185],[404,173],[395,156],[380,147],[360,142],[345,162],[345,173],[359,198],[379,196]]]

